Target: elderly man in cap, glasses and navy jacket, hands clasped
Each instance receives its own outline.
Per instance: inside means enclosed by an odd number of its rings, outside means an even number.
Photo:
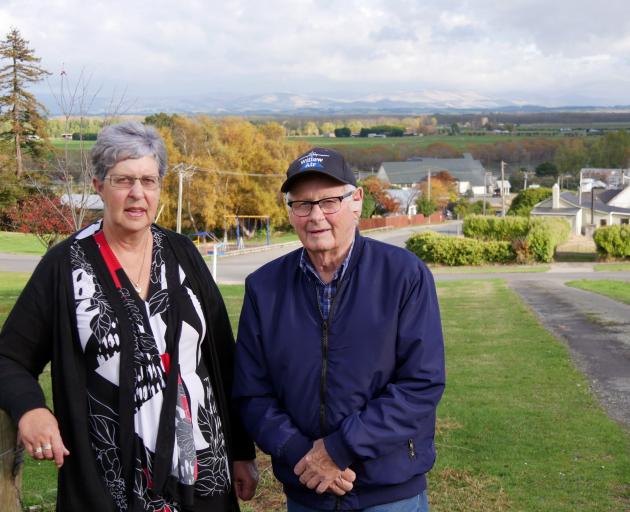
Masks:
[[[282,185],[303,248],[247,278],[234,396],[289,512],[428,510],[444,346],[431,273],[357,231],[363,190],[315,148]]]

